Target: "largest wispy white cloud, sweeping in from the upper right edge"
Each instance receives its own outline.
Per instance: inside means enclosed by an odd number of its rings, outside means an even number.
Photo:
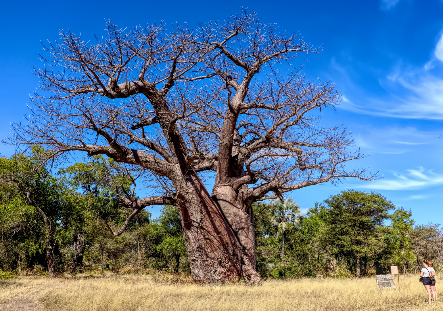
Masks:
[[[432,58],[422,67],[404,65],[400,61],[388,75],[379,79],[385,95],[361,96],[364,91],[347,83],[349,88],[341,108],[395,118],[443,119],[442,72],[443,35],[435,46]]]

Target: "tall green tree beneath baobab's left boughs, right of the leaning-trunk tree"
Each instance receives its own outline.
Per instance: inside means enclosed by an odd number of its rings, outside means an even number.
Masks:
[[[90,228],[86,228],[87,226],[97,221],[103,224],[110,223],[111,226],[113,224],[121,226],[124,219],[128,217],[128,210],[122,209],[120,206],[123,200],[119,196],[121,189],[119,185],[123,187],[124,191],[128,191],[131,182],[127,174],[122,176],[114,172],[116,165],[113,159],[105,159],[103,156],[97,155],[92,157],[90,161],[75,163],[59,172],[67,186],[82,191],[81,194],[76,193],[76,196],[71,198],[72,213],[69,219],[71,220],[70,231],[74,243],[72,272],[83,264],[85,237],[89,236],[89,239],[95,244],[99,243],[98,240],[101,241],[100,245],[97,244],[101,257],[103,257],[105,248],[109,248],[106,246],[109,241],[103,246],[104,241],[108,239],[104,239],[105,233],[100,232],[97,240],[90,234],[86,235],[86,230],[90,231]],[[80,205],[82,208],[79,209]],[[95,220],[93,220],[94,218]],[[116,247],[119,245],[117,248],[128,244],[127,242],[118,243],[119,240],[126,241],[124,238],[115,240],[113,245]],[[114,255],[113,258],[115,259]]]

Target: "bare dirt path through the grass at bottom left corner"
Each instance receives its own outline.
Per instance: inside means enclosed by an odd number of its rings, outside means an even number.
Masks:
[[[59,284],[41,284],[35,285],[27,293],[13,297],[11,300],[0,304],[1,311],[43,311],[39,305],[39,295],[47,289],[58,286]]]

